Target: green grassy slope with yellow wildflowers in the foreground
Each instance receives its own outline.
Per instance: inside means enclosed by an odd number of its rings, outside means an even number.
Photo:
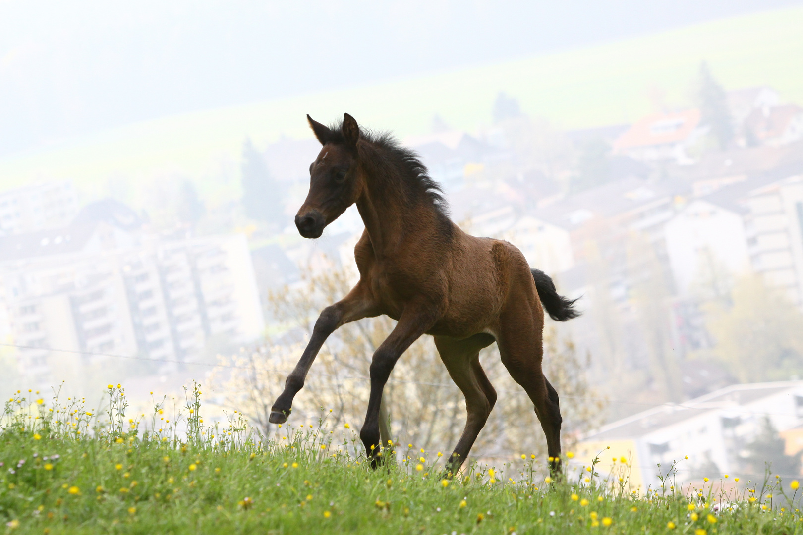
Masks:
[[[32,392],[6,403],[6,533],[801,531],[800,515],[789,512],[797,507],[797,495],[789,494],[795,485],[776,480],[755,494],[716,495],[709,486],[687,496],[668,488],[670,470],[666,493],[645,496],[629,492],[626,463],[609,475],[572,468],[556,482],[530,458],[495,469],[474,465],[442,479],[442,457],[406,445],[398,448],[409,463],[392,460],[372,470],[364,457],[346,453],[359,446],[354,430],[329,428],[326,411],[315,428],[285,426],[279,432],[287,438],[260,443],[241,415],[205,426],[198,387],[183,414],[167,415],[154,403],[153,414],[132,421],[124,391],[109,385],[108,394],[104,411],[87,411],[77,399],[37,401]]]

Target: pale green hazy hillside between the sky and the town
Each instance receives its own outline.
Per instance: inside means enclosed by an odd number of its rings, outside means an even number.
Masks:
[[[210,201],[238,195],[246,136],[266,144],[307,137],[304,114],[322,121],[349,111],[362,124],[400,136],[428,131],[434,114],[455,128],[490,122],[499,91],[528,114],[563,128],[632,121],[655,103],[683,105],[699,63],[727,88],[769,84],[803,103],[803,8],[707,22],[618,43],[528,57],[371,87],[315,93],[165,117],[63,146],[0,160],[6,187],[30,180],[75,180],[89,197],[108,180],[141,183],[190,176]],[[282,53],[289,53],[283,51]]]

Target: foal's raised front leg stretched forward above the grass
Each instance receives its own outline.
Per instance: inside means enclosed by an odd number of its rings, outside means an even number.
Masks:
[[[309,339],[307,348],[301,355],[296,367],[293,368],[287,380],[284,382],[284,391],[276,399],[271,407],[271,416],[268,421],[271,424],[283,424],[287,421],[287,416],[292,410],[293,398],[298,391],[304,387],[304,379],[312,363],[315,361],[320,347],[326,342],[329,334],[332,334],[339,326],[345,323],[354,322],[358,319],[377,315],[376,306],[369,292],[365,289],[362,281],[357,283],[353,289],[339,302],[327,306],[320,313],[315,328],[312,330],[312,338]]]

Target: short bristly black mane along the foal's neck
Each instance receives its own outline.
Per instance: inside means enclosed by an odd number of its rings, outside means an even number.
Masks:
[[[345,143],[342,122],[332,125],[329,129],[332,131],[332,142]],[[375,134],[361,127],[360,139],[379,149],[371,158],[373,164],[395,168],[396,174],[402,177],[401,185],[407,197],[427,201],[438,214],[438,218],[449,222],[449,225],[446,226],[451,228],[449,206],[446,204],[446,199],[443,198],[443,188],[430,177],[426,165],[422,164],[418,153],[410,148],[402,147],[390,132]],[[381,173],[380,176],[385,176],[385,174]]]

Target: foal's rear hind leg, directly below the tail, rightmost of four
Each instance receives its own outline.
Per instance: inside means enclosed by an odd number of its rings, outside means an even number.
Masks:
[[[516,383],[524,387],[535,405],[546,435],[548,455],[553,458],[551,468],[554,472],[560,468],[560,424],[563,418],[557,392],[541,370],[543,313],[538,318],[537,309],[532,310],[527,302],[521,302],[515,308],[518,310],[507,310],[500,318],[496,338],[499,354],[507,371]]]

